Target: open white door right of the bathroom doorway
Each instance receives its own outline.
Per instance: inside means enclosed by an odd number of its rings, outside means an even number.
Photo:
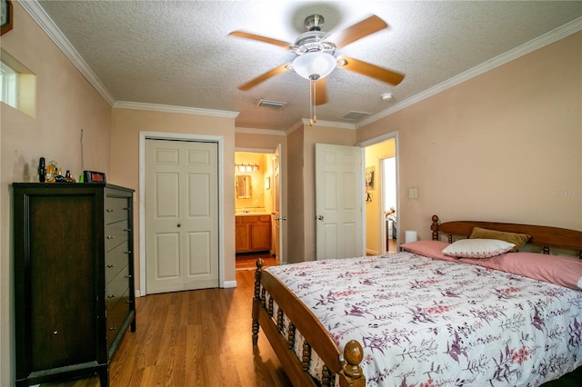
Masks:
[[[316,144],[316,259],[364,255],[362,148]]]

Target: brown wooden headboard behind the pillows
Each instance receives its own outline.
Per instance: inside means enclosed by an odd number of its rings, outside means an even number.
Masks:
[[[582,231],[569,230],[566,228],[518,224],[518,223],[497,223],[497,222],[476,222],[476,221],[455,221],[438,223],[438,216],[433,215],[432,239],[438,240],[439,233],[446,233],[448,242],[453,242],[453,235],[461,235],[468,238],[473,231],[473,227],[487,228],[489,230],[505,231],[508,233],[527,233],[531,238],[527,243],[543,246],[543,252],[549,253],[550,247],[560,247],[577,250],[582,259]]]

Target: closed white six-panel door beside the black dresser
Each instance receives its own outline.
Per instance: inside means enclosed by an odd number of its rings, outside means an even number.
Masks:
[[[217,150],[146,140],[146,293],[218,287]]]

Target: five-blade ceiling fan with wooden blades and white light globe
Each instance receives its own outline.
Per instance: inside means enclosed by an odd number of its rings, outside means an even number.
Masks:
[[[328,34],[321,30],[325,19],[322,15],[310,15],[306,17],[307,31],[296,38],[294,44],[284,42],[267,36],[255,35],[245,31],[233,31],[229,35],[257,40],[271,45],[276,45],[294,53],[296,59],[292,63],[286,63],[257,76],[255,79],[241,84],[239,90],[248,90],[267,79],[290,70],[311,81],[311,105],[315,110],[316,104],[326,104],[327,91],[325,78],[336,66],[357,74],[363,74],[386,84],[400,84],[404,74],[388,70],[377,65],[372,65],[345,55],[335,56],[336,50],[355,42],[367,35],[371,35],[387,28],[386,22],[376,15],[370,15],[361,22],[351,25],[346,29]],[[313,114],[313,121],[316,116]]]

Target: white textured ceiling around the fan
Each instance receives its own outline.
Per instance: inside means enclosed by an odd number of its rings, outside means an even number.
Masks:
[[[349,112],[382,114],[557,27],[582,25],[580,1],[40,1],[116,103],[238,112],[236,126],[288,130],[309,116],[309,85],[294,72],[246,92],[237,86],[293,60],[275,45],[228,36],[235,30],[293,43],[306,16],[334,32],[369,14],[389,27],[338,54],[406,74],[390,86],[336,68],[320,122],[357,127]],[[40,10],[40,8],[39,8]],[[30,11],[29,11],[30,12]],[[42,13],[42,10],[41,10]],[[579,30],[579,26],[574,27]],[[99,89],[99,88],[97,88]],[[394,94],[386,102],[380,98]],[[279,111],[261,99],[285,102]],[[364,119],[366,121],[366,118]]]

